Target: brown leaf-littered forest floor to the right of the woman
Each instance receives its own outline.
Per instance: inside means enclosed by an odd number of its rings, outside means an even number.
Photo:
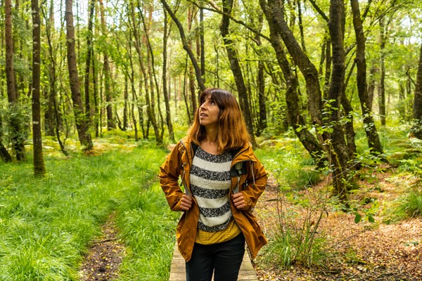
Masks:
[[[259,280],[422,280],[422,218],[411,218],[399,223],[383,223],[384,208],[414,184],[412,176],[397,176],[394,169],[373,172],[371,181],[360,181],[359,190],[350,200],[354,202],[378,202],[375,223],[354,223],[354,214],[343,211],[324,210],[318,233],[324,233],[331,254],[324,266],[307,268],[293,264],[281,268],[274,262],[265,261],[265,247],[255,259],[255,270]],[[306,193],[324,192],[326,182],[311,188]],[[277,204],[278,185],[269,178],[267,190],[260,197],[255,215],[268,237],[279,229]],[[312,195],[310,195],[312,197]],[[365,200],[366,198],[373,200]],[[283,204],[288,204],[281,200]],[[306,216],[298,205],[289,204]],[[364,211],[371,203],[362,204]]]

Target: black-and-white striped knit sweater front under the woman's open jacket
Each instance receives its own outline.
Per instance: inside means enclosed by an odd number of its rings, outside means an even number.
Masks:
[[[230,180],[231,154],[212,155],[196,150],[191,169],[191,190],[199,205],[198,228],[207,232],[224,230],[231,221],[227,195]]]

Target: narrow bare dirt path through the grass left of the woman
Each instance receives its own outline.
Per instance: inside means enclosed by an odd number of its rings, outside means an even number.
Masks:
[[[114,214],[103,225],[101,237],[92,242],[89,253],[79,270],[81,281],[106,281],[119,276],[119,268],[126,253],[117,239]]]

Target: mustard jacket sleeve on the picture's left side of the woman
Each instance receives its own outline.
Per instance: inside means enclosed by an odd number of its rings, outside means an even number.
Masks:
[[[181,169],[181,155],[179,145],[176,145],[165,162],[160,166],[160,186],[165,193],[165,197],[172,211],[182,211],[180,209],[180,200],[183,195],[178,180]]]

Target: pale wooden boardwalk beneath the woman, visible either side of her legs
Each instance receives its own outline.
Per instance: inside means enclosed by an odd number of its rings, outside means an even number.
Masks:
[[[177,249],[177,244],[174,246],[172,268],[170,269],[169,281],[186,281],[185,260]],[[241,271],[239,272],[238,281],[257,281],[257,273],[250,263],[248,251],[243,255]]]

